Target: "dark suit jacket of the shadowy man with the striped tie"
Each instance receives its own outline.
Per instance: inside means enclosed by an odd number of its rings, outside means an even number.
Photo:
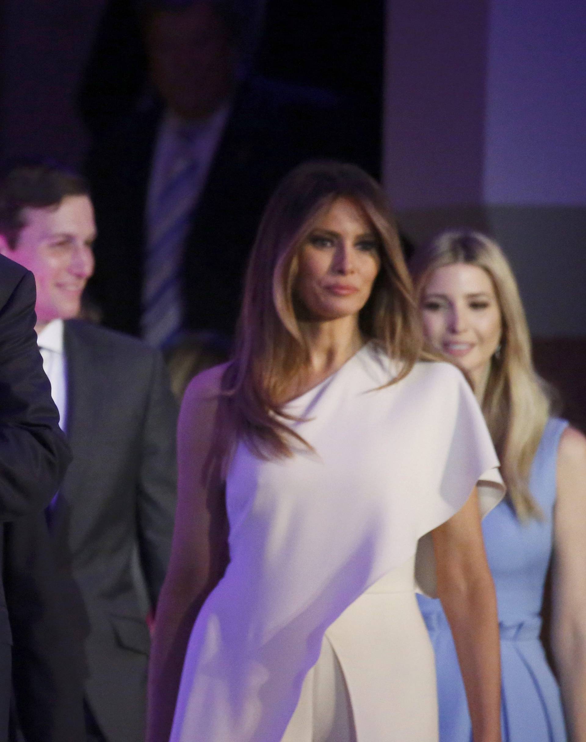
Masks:
[[[162,116],[155,99],[100,139],[86,167],[98,232],[89,288],[104,323],[133,335],[140,329],[146,198]],[[356,122],[351,107],[325,91],[259,77],[241,84],[183,251],[184,329],[232,333],[267,200],[299,162],[359,160]]]

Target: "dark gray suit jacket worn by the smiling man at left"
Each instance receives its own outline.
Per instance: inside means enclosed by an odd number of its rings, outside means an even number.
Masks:
[[[153,605],[175,515],[176,404],[158,352],[65,323],[67,435],[74,459],[51,518],[59,568],[74,578],[72,628],[85,646],[85,698],[108,742],[143,742],[149,629],[131,559]]]

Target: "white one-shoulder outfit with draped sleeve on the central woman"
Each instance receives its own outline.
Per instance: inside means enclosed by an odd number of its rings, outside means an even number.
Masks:
[[[373,342],[287,405],[313,451],[227,477],[230,562],[186,651],[172,742],[434,742],[434,658],[414,591],[429,531],[477,482],[501,499],[478,404],[449,364]],[[426,536],[428,534],[428,536]]]

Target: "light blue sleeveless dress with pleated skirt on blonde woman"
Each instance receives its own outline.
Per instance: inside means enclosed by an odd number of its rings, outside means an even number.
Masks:
[[[531,469],[530,490],[545,520],[521,524],[504,500],[484,519],[486,555],[495,580],[501,628],[504,742],[566,742],[559,686],[539,640],[541,603],[553,539],[556,461],[567,421],[550,418]],[[439,600],[418,595],[435,651],[440,742],[471,742],[452,634]]]

